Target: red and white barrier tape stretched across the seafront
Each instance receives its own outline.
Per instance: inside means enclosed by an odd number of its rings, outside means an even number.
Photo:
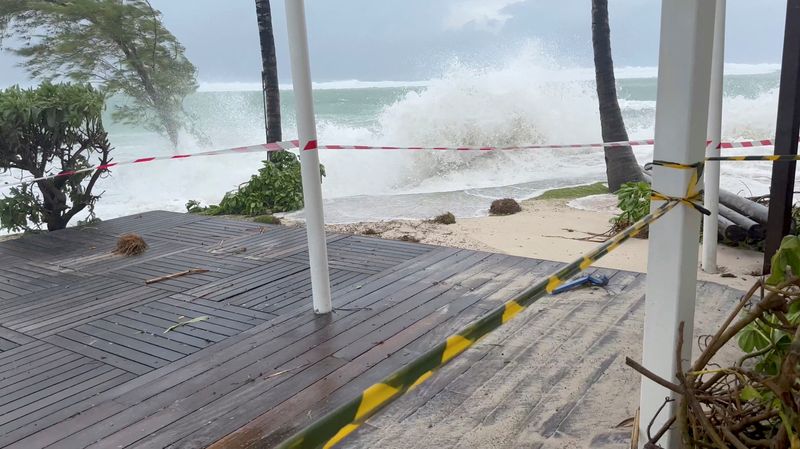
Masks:
[[[396,147],[396,146],[370,146],[370,145],[319,145],[312,140],[308,142],[304,150],[412,150],[412,151],[513,151],[513,150],[557,150],[557,149],[597,149],[597,148],[618,148],[626,146],[645,146],[653,145],[653,139],[645,140],[629,140],[624,142],[605,142],[605,143],[588,143],[588,144],[574,144],[574,145],[524,145],[524,146],[508,146],[508,147]],[[710,142],[709,142],[710,143]],[[754,148],[774,145],[773,140],[748,140],[740,142],[722,142],[720,148]],[[174,159],[188,159],[191,157],[204,157],[204,156],[222,156],[226,154],[240,154],[240,153],[260,153],[280,150],[293,150],[299,148],[300,142],[297,140],[287,140],[283,142],[274,142],[260,145],[250,145],[246,147],[227,148],[223,150],[206,151],[202,153],[188,153],[176,154],[173,156],[153,156],[143,157],[139,159],[131,159],[122,162],[110,162],[108,164],[97,165],[94,167],[84,168],[81,170],[65,171],[53,175],[42,176],[40,178],[26,179],[18,182],[5,182],[0,183],[0,189],[15,187],[23,184],[30,184],[36,181],[44,181],[47,179],[60,178],[64,176],[73,176],[79,173],[90,172],[94,170],[108,170],[112,167],[120,165],[142,164],[154,161],[167,161]]]

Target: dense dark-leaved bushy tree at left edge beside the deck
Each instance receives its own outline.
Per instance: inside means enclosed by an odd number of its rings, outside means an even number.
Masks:
[[[104,95],[89,85],[44,83],[0,91],[0,173],[41,178],[111,161],[103,129]],[[100,198],[93,189],[104,171],[16,186],[0,199],[0,228],[63,229]]]

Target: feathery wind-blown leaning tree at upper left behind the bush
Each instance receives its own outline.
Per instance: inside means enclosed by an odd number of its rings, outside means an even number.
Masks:
[[[115,120],[144,125],[178,143],[196,135],[183,108],[197,90],[197,69],[148,0],[2,0],[0,38],[31,76],[101,85],[129,101]]]

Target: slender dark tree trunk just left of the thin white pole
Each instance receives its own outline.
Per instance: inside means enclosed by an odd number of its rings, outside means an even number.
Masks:
[[[267,143],[281,140],[281,98],[278,88],[278,61],[275,56],[275,36],[272,33],[272,10],[269,0],[256,0],[258,34],[261,40],[261,82],[264,87],[264,107]]]

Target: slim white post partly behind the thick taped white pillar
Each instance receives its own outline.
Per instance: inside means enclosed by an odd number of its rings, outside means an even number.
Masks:
[[[706,156],[719,156],[722,140],[722,96],[725,67],[725,2],[717,0],[714,19],[714,55],[711,58],[711,93],[708,111],[708,140]],[[703,178],[705,207],[711,215],[703,217],[703,258],[700,266],[706,273],[717,272],[717,221],[719,217],[719,161],[706,162]]]

